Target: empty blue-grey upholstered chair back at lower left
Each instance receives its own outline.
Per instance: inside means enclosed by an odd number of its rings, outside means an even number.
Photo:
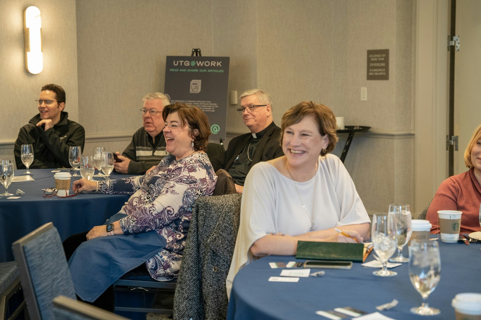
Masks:
[[[30,319],[54,319],[52,300],[63,295],[76,299],[62,241],[50,222],[13,242],[20,282]]]

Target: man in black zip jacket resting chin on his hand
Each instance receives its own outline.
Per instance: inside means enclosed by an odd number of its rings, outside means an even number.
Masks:
[[[85,143],[85,130],[68,119],[65,107],[65,91],[60,85],[46,84],[38,98],[38,115],[20,128],[13,154],[17,168],[25,168],[21,159],[22,144],[32,144],[33,163],[30,168],[70,167],[69,147]]]

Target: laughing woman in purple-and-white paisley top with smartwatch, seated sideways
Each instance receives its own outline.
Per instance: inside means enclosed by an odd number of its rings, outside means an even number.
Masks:
[[[113,310],[114,292],[110,284],[137,265],[136,272],[150,274],[155,280],[174,279],[180,268],[191,208],[198,197],[212,195],[214,191],[217,177],[204,152],[211,133],[207,116],[198,107],[175,103],[164,108],[163,117],[166,150],[170,155],[151,172],[104,183],[74,181],[73,190],[78,192],[131,194],[119,213],[109,219],[110,224],[95,226],[64,242],[67,259],[72,256],[69,264],[76,294],[98,307]],[[99,246],[106,248],[105,252]],[[126,262],[130,256],[123,259],[118,254],[124,253],[107,249],[118,247],[122,248],[119,251],[128,247],[139,259],[138,264],[127,265],[133,263]],[[96,251],[101,253],[95,256]],[[102,269],[104,265],[108,267]],[[115,272],[120,274],[112,275]],[[98,282],[106,285],[100,293],[87,285]],[[102,294],[103,290],[106,291]]]

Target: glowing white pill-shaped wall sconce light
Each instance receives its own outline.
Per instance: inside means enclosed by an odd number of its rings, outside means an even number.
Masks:
[[[24,12],[25,69],[33,74],[43,70],[42,21],[40,10],[31,6]]]

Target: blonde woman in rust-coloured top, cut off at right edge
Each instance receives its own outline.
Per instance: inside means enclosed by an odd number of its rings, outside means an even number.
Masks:
[[[464,152],[468,171],[447,178],[441,183],[429,206],[426,219],[432,224],[431,233],[439,233],[438,211],[458,210],[461,233],[480,231],[481,203],[481,125],[474,130]]]

